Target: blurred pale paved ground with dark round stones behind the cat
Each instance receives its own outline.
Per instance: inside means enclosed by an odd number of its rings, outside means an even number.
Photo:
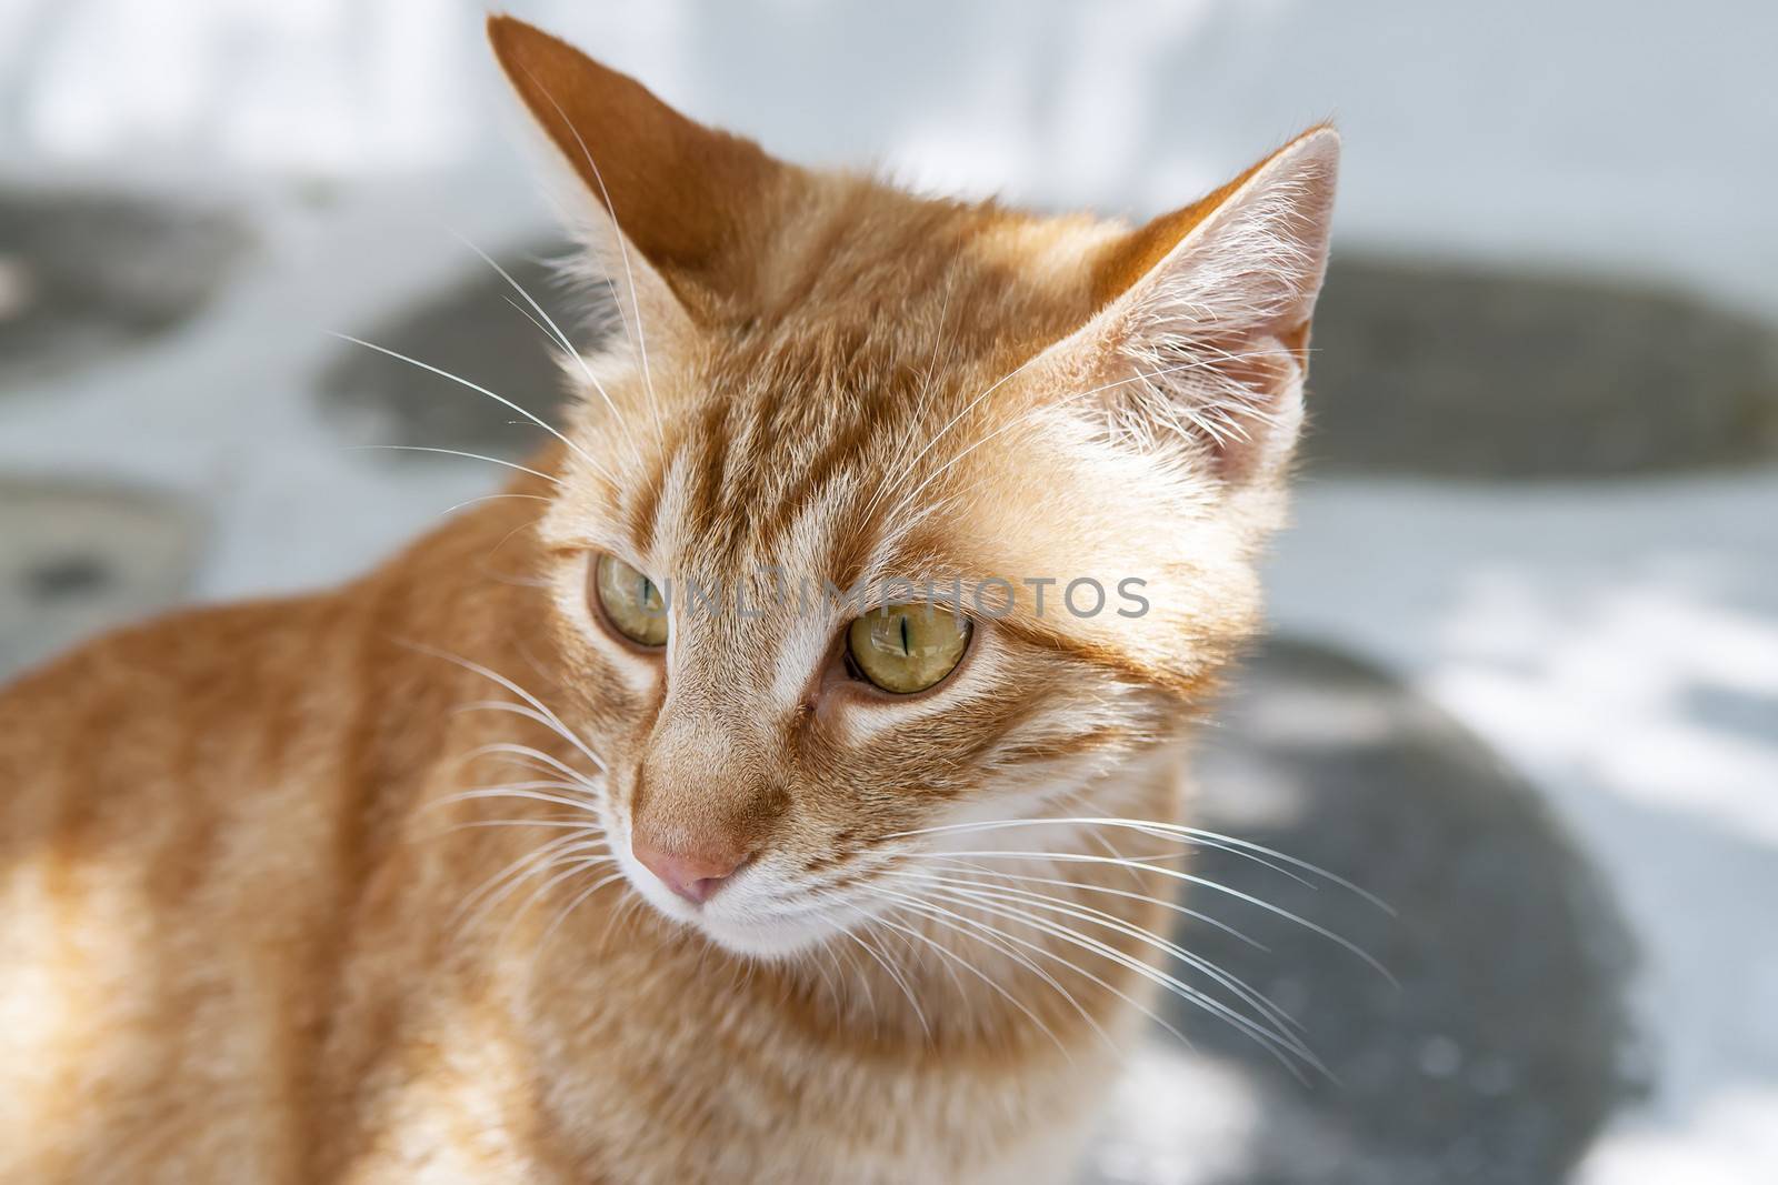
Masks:
[[[1335,117],[1298,521],[1204,812],[1398,915],[1207,865],[1401,986],[1188,931],[1339,1080],[1182,1018],[1081,1180],[1778,1180],[1778,5],[514,11],[781,155],[1054,210]],[[0,0],[0,677],[494,489],[359,446],[535,430],[331,334],[549,414],[475,251],[583,313],[533,156],[466,0]]]

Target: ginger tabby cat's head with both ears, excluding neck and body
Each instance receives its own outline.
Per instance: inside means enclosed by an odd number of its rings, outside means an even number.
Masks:
[[[635,888],[775,954],[955,837],[910,831],[1118,814],[1257,618],[1334,131],[1131,229],[788,165],[489,28],[621,313],[541,533]]]

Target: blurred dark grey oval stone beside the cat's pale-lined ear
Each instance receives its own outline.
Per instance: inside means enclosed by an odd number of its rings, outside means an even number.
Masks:
[[[1335,252],[1310,471],[1604,478],[1778,458],[1778,330],[1671,291]]]

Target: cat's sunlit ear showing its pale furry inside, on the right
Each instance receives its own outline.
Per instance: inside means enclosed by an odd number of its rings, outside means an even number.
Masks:
[[[1309,322],[1326,272],[1339,135],[1326,126],[1205,199],[1115,240],[1099,311],[1040,357],[1113,433],[1229,481],[1278,473],[1301,425]]]

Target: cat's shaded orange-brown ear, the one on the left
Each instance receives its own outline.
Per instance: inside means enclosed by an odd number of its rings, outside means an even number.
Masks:
[[[763,211],[797,171],[525,21],[491,16],[487,39],[592,199],[574,229],[621,300],[642,306],[651,325],[717,320],[745,304],[766,238]],[[663,302],[674,307],[649,307]]]

